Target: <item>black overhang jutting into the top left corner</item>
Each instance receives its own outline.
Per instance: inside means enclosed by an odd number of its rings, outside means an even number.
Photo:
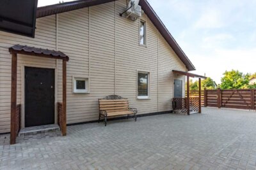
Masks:
[[[34,38],[37,1],[1,0],[0,30]]]

